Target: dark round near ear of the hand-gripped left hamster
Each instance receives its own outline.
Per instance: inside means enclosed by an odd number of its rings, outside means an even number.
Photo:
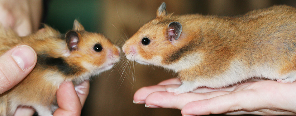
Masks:
[[[78,34],[75,31],[68,31],[65,35],[65,41],[70,52],[72,52],[73,50],[78,50],[77,44],[79,42],[79,38]]]

